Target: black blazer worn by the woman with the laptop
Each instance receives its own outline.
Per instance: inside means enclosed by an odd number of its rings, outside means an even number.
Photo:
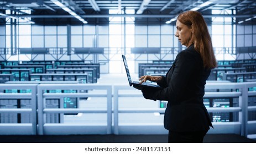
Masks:
[[[158,83],[163,90],[150,90],[150,99],[168,101],[164,127],[172,131],[208,130],[212,123],[203,105],[205,84],[211,70],[194,45],[177,54],[173,66]]]

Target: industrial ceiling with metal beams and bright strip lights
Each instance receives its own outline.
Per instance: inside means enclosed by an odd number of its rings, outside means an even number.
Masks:
[[[109,9],[118,14],[109,14]],[[135,12],[124,13],[129,9]],[[36,24],[108,24],[109,17],[134,17],[135,24],[164,24],[186,10],[197,10],[209,21],[211,17],[234,17],[236,23],[256,22],[255,0],[0,0],[0,24],[10,17],[29,18]],[[222,10],[222,14],[212,14],[212,10]],[[226,10],[234,11],[223,15]]]

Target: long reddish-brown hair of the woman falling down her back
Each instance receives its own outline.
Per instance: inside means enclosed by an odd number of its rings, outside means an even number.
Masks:
[[[190,43],[194,43],[195,50],[201,54],[203,66],[208,69],[217,67],[211,36],[202,15],[197,11],[189,10],[179,14],[177,20],[182,24],[192,27]]]

